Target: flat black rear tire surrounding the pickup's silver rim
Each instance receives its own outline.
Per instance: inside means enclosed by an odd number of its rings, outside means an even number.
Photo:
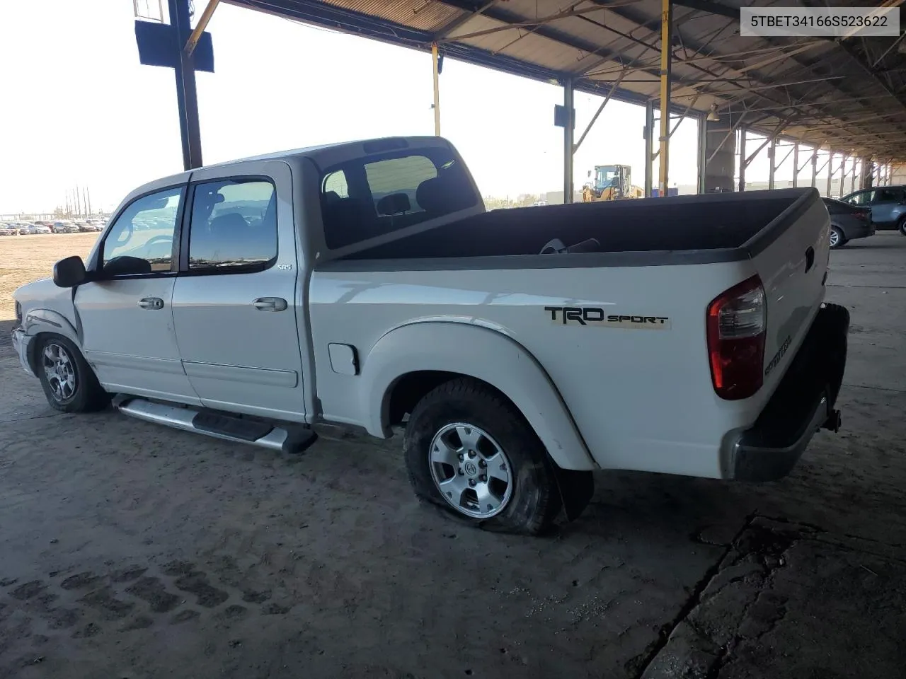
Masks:
[[[429,459],[432,441],[444,427],[455,423],[484,430],[508,459],[507,485],[512,483],[512,489],[498,513],[489,518],[469,516],[454,507],[434,481]],[[456,378],[422,397],[406,426],[403,454],[419,499],[439,505],[470,525],[537,535],[551,525],[562,507],[554,463],[535,431],[505,397],[477,380]]]

